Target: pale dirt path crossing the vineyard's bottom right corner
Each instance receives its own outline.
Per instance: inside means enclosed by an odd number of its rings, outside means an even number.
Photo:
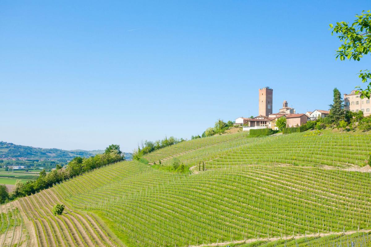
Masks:
[[[350,235],[353,233],[368,233],[371,230],[359,230],[359,231],[346,231],[340,233],[317,233],[317,234],[306,234],[306,235],[297,235],[297,236],[289,236],[289,237],[274,237],[274,238],[250,238],[247,240],[236,240],[230,242],[221,242],[221,243],[212,243],[212,244],[200,244],[200,245],[190,245],[189,247],[212,247],[212,246],[224,246],[227,244],[244,244],[244,243],[253,243],[255,241],[276,241],[276,240],[292,240],[304,237],[326,237],[330,235]]]

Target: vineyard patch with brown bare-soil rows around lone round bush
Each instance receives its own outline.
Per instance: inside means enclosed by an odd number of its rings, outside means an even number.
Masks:
[[[50,190],[16,201],[20,214],[26,218],[31,246],[117,246],[93,216],[69,207],[65,207],[62,215],[54,216],[52,208],[56,204],[63,203]]]

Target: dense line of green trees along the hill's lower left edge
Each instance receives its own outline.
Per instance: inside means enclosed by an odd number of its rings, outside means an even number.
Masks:
[[[103,154],[97,154],[89,158],[75,157],[66,166],[62,167],[57,164],[56,170],[50,173],[46,173],[43,170],[36,180],[27,181],[26,183],[17,180],[12,193],[8,193],[7,187],[2,184],[0,185],[0,203],[4,203],[6,200],[13,200],[17,197],[29,196],[66,179],[123,160],[124,156],[121,156],[121,154],[120,146],[112,144],[106,148]]]

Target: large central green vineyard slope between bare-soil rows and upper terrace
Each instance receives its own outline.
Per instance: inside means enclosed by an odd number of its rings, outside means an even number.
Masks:
[[[99,180],[109,167],[52,191],[81,210],[98,210],[114,220],[131,246],[186,246],[370,227],[368,173],[243,165],[188,176],[137,162],[112,168],[118,167],[122,175],[102,186],[83,184]]]

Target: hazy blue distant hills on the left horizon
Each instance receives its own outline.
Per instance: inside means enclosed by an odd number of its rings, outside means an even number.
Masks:
[[[104,153],[104,150],[62,150],[58,148],[22,146],[0,141],[0,159],[71,160],[76,156],[90,157],[101,153]],[[125,158],[131,159],[131,153],[125,153]]]

